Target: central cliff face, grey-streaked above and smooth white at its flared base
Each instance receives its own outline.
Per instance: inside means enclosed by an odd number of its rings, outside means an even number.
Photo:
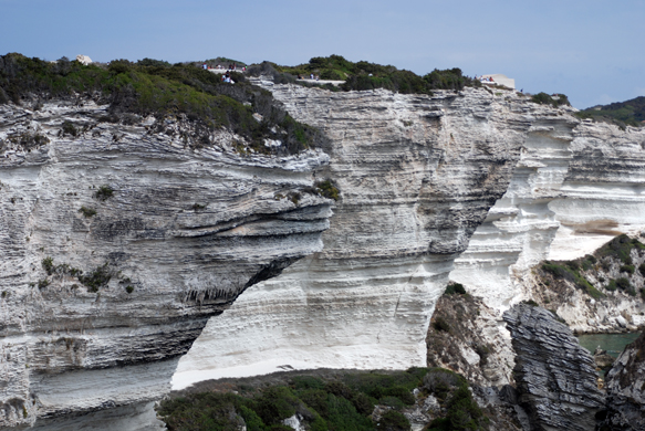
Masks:
[[[330,137],[331,162],[316,176],[341,199],[323,251],[210,319],[174,388],[290,368],[425,366],[452,261],[508,187],[538,105],[485,90],[271,91]]]

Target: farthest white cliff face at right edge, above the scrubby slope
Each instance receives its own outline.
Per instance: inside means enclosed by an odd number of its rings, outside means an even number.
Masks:
[[[578,259],[645,229],[644,149],[642,128],[584,123],[574,130],[562,196],[549,203],[560,222],[549,259]]]

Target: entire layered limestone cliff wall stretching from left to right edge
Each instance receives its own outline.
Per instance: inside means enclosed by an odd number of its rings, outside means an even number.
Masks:
[[[639,229],[641,130],[509,91],[258,84],[325,146],[259,155],[218,129],[195,148],[181,116],[0,105],[2,425],[136,416],[200,333],[175,387],[425,365],[449,278],[501,309],[563,225]]]

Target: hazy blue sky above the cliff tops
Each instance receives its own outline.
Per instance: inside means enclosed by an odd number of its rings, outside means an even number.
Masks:
[[[645,95],[645,1],[0,0],[0,54],[179,62],[312,56],[503,73],[585,108]]]

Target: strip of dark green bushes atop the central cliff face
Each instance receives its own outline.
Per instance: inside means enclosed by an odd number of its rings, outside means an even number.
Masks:
[[[392,65],[381,65],[366,61],[351,62],[341,55],[316,56],[309,63],[297,66],[281,66],[264,62],[249,67],[251,74],[271,73],[279,83],[295,82],[300,75],[312,73],[321,80],[345,81],[340,87],[329,85],[329,90],[352,91],[386,88],[403,94],[431,94],[433,90],[462,90],[466,86],[481,86],[478,80],[465,76],[460,69],[434,70],[419,76],[410,71]]]

